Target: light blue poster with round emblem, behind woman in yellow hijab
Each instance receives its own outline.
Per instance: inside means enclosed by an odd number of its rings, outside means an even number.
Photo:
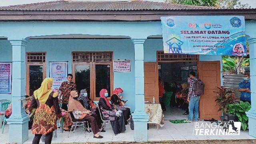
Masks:
[[[50,77],[53,78],[52,89],[59,89],[62,82],[67,80],[68,61],[50,62]]]

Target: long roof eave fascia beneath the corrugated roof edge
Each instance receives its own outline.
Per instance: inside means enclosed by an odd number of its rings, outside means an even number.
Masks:
[[[248,10],[130,10],[130,11],[0,11],[0,21],[160,21],[161,16],[245,16],[256,20]]]

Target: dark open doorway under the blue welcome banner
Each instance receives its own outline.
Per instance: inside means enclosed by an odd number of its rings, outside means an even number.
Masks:
[[[197,62],[158,62],[158,79],[165,91],[161,100],[166,110],[165,118],[176,119],[177,115],[185,118],[188,114],[186,97],[181,94],[188,84],[191,71],[197,74]]]

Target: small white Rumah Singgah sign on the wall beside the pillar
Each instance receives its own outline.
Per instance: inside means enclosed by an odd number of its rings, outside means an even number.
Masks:
[[[131,60],[114,60],[113,61],[114,72],[131,72]]]

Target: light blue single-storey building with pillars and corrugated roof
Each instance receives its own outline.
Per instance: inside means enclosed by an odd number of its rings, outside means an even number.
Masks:
[[[131,1],[131,2],[72,2],[57,1],[20,6],[0,7],[0,62],[12,62],[12,93],[0,94],[0,99],[13,103],[12,116],[8,118],[10,142],[22,143],[28,139],[28,116],[20,99],[30,95],[33,85],[30,72],[40,69],[42,78],[49,77],[49,62],[68,61],[68,73],[89,70],[88,88],[94,101],[98,100],[100,71],[108,71],[110,92],[121,87],[131,107],[134,119],[134,138],[147,140],[148,115],[144,101],[158,97],[158,53],[163,51],[160,16],[172,15],[242,15],[246,19],[246,37],[250,44],[251,83],[256,83],[256,12],[248,10],[218,9],[201,6]],[[33,58],[35,57],[35,58]],[[114,59],[131,60],[131,72],[113,72]],[[191,60],[191,59],[190,59]],[[188,60],[188,61],[190,61]],[[170,60],[168,60],[170,61]],[[186,61],[186,59],[178,59]],[[205,65],[214,65],[216,85],[222,83],[222,56],[199,55],[199,77]],[[83,66],[83,69],[79,68]],[[39,68],[38,68],[39,67]],[[85,68],[86,67],[86,68]],[[148,70],[149,69],[149,70]],[[152,71],[151,71],[152,70]],[[154,75],[153,79],[149,79]],[[145,74],[147,73],[147,74]],[[74,81],[78,78],[74,77]],[[207,82],[206,82],[207,83]],[[150,86],[148,85],[150,84]],[[211,81],[208,84],[211,85]],[[200,103],[214,100],[211,97]],[[249,134],[256,137],[256,91],[252,89],[252,109],[249,117]],[[112,92],[111,92],[112,93]],[[111,94],[110,93],[110,94]],[[215,103],[210,111],[200,110],[200,118],[220,115]]]

